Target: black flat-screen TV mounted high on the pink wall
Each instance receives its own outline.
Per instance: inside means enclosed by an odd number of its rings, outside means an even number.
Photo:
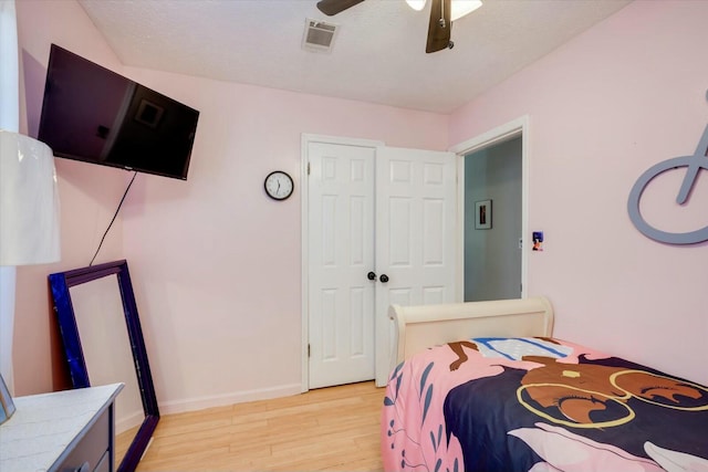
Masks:
[[[199,112],[52,44],[38,139],[56,157],[187,179]]]

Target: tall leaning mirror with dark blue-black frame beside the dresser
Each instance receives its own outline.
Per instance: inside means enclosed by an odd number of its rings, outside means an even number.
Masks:
[[[115,405],[114,463],[133,472],[159,410],[127,262],[54,273],[49,282],[72,386],[125,384]]]

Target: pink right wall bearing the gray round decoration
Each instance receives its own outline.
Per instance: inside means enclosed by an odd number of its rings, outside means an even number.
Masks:
[[[450,143],[530,116],[529,293],[555,334],[708,382],[708,243],[642,235],[626,211],[638,176],[693,154],[708,124],[708,2],[631,3],[451,116]],[[708,172],[676,209],[681,175],[647,190],[664,229],[708,224]]]

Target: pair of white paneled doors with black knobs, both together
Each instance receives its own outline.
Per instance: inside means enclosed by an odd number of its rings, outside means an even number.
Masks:
[[[388,305],[456,296],[455,155],[320,141],[306,149],[308,385],[382,386],[394,347]]]

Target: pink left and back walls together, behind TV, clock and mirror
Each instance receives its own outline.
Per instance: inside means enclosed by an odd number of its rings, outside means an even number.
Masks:
[[[164,411],[299,391],[300,192],[277,203],[263,195],[264,176],[287,170],[300,188],[302,133],[444,149],[448,117],[124,67],[74,0],[22,0],[18,23],[33,64],[24,82],[34,134],[51,42],[201,112],[189,180],[139,175],[96,261],[129,263]],[[19,395],[56,384],[46,274],[87,265],[129,177],[56,164],[64,254],[20,270]]]

